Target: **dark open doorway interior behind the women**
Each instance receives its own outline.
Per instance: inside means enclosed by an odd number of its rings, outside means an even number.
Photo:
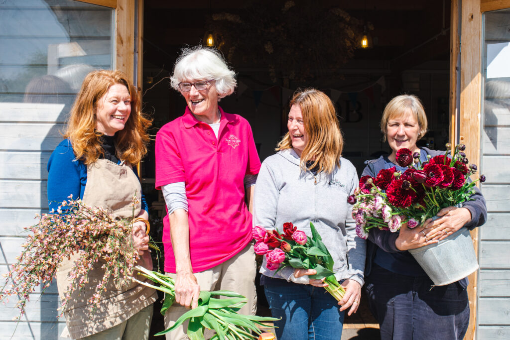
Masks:
[[[335,18],[352,36],[331,34],[337,32]],[[154,118],[152,135],[184,112],[185,101],[165,79],[180,49],[203,43],[211,33],[238,79],[236,93],[220,104],[249,121],[261,161],[283,136],[289,97],[310,86],[336,103],[344,156],[359,174],[364,161],[390,151],[379,120],[395,95],[416,94],[424,103],[429,132],[420,146],[441,149],[448,141],[449,1],[145,0],[143,20],[143,102],[144,112]],[[246,29],[229,30],[238,21]],[[371,48],[356,47],[364,33]],[[154,190],[154,168],[152,144],[141,174],[152,223],[158,225],[165,214]],[[261,298],[261,312],[264,303]],[[344,331],[375,323],[364,299],[359,312],[346,318]]]

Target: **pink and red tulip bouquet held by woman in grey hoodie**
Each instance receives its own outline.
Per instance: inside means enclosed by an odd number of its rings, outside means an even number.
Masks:
[[[285,267],[315,269],[317,274],[310,275],[310,278],[325,278],[327,286],[324,289],[340,301],[345,295],[345,289],[335,278],[333,257],[322,243],[313,223],[310,223],[310,229],[312,237],[307,237],[290,222],[284,223],[282,234],[278,229],[266,230],[256,226],[252,231],[256,241],[255,252],[266,256],[269,270],[279,271]]]

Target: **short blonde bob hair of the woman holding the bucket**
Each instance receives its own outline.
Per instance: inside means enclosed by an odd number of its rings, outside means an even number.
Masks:
[[[418,140],[427,133],[427,116],[423,104],[414,94],[401,94],[396,96],[386,105],[381,119],[381,132],[384,134],[383,140],[386,141],[388,135],[388,121],[394,118],[400,118],[406,115],[412,115],[418,122],[420,132]]]

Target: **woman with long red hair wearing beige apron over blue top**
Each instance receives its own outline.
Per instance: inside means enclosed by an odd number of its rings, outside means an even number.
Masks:
[[[90,72],[71,109],[65,139],[49,158],[47,193],[50,210],[57,210],[72,195],[90,206],[106,208],[118,218],[131,218],[134,213],[138,264],[152,269],[147,252],[147,204],[135,167],[147,152],[149,125],[150,120],[140,112],[136,88],[125,74]],[[139,202],[133,206],[135,195]],[[77,256],[64,260],[57,272],[61,298],[71,283],[68,273]],[[100,267],[96,263],[89,272],[88,284],[71,295],[64,310],[65,333],[74,339],[147,339],[156,292],[135,283],[118,290],[110,282],[101,297],[101,307],[91,313],[93,306],[86,301],[103,277]]]

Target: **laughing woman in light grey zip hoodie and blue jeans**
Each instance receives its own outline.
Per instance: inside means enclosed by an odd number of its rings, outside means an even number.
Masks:
[[[306,89],[290,102],[289,132],[263,163],[254,197],[254,224],[269,230],[292,222],[311,234],[313,222],[335,261],[336,278],[347,293],[337,302],[309,278],[315,270],[270,270],[261,284],[275,318],[278,339],[340,339],[344,310],[356,312],[364,283],[365,241],[356,238],[347,197],[358,187],[354,166],[342,158],[343,139],[333,102]],[[341,306],[339,306],[341,305]]]

